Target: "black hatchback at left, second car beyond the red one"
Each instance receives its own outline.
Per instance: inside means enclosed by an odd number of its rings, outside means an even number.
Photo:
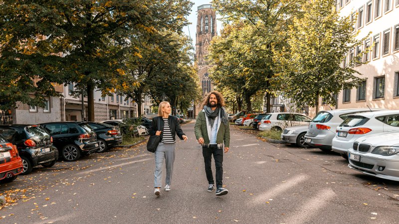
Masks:
[[[75,161],[81,155],[89,155],[100,148],[96,133],[87,122],[51,122],[40,125],[53,137],[55,147],[66,161]]]

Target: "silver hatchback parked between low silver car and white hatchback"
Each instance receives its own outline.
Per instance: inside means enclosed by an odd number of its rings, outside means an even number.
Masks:
[[[358,108],[320,111],[309,124],[308,132],[305,134],[305,142],[323,151],[331,151],[336,128],[349,114],[382,110],[385,109]]]

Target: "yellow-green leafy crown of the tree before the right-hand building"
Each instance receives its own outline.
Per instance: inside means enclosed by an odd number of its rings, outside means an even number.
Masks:
[[[315,105],[319,111],[319,98],[335,105],[333,94],[342,89],[353,88],[361,78],[353,67],[362,64],[360,52],[350,58],[345,67],[340,64],[350,52],[363,41],[356,39],[349,16],[340,18],[334,8],[334,0],[310,0],[302,10],[303,17],[295,17],[289,27],[289,47],[283,53],[275,54],[279,62],[279,81],[284,86],[279,93],[291,99],[297,106]]]

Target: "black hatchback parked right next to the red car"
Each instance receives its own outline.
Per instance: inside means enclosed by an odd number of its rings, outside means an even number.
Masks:
[[[58,159],[58,150],[53,146],[52,137],[39,125],[0,125],[0,134],[16,145],[22,159],[21,175],[29,174],[37,165],[51,167]]]

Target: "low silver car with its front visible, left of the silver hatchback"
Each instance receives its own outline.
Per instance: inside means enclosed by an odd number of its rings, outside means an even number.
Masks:
[[[301,148],[310,147],[310,145],[305,142],[305,134],[308,131],[308,126],[309,124],[285,128],[281,133],[281,140],[286,143],[296,144]]]

